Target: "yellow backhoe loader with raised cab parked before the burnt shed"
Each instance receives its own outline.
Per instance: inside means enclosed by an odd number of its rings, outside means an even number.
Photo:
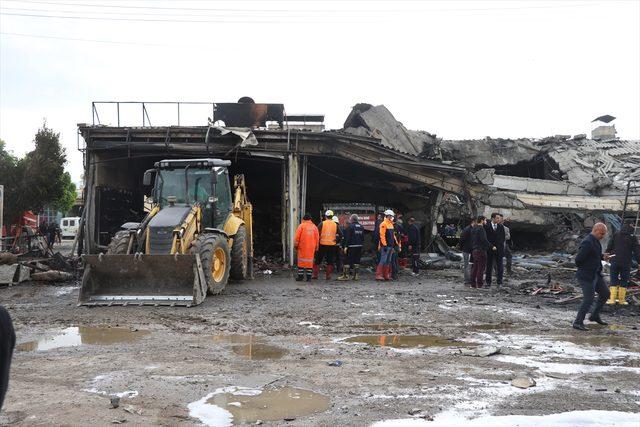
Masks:
[[[228,160],[162,160],[151,210],[126,223],[105,254],[85,255],[81,305],[200,304],[229,277],[253,277],[252,207],[244,175],[229,182]],[[232,198],[233,197],[233,198]]]

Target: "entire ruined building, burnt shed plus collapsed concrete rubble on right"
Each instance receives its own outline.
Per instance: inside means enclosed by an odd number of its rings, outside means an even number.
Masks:
[[[118,113],[121,103],[115,104]],[[123,103],[124,104],[124,103]],[[289,115],[282,104],[210,103],[202,125],[79,124],[84,140],[82,242],[104,251],[127,221],[145,214],[145,170],[165,158],[231,160],[254,206],[256,254],[293,261],[292,240],[305,212],[327,203],[388,206],[415,216],[428,246],[439,223],[497,210],[511,218],[523,246],[571,251],[596,219],[615,222],[625,186],[640,179],[640,142],[586,135],[455,141],[406,129],[384,106],[358,104],[342,129],[323,115]],[[186,103],[188,104],[188,103]],[[183,107],[184,108],[184,107]],[[635,199],[634,199],[635,200]]]

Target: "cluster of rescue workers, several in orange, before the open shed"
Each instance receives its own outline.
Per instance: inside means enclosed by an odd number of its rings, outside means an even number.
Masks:
[[[332,210],[324,213],[317,226],[306,214],[296,230],[294,247],[298,257],[296,280],[317,279],[320,266],[326,263],[325,279],[331,280],[335,270],[341,271],[338,280],[359,280],[360,259],[364,247],[364,227],[357,214],[349,217],[341,227]],[[376,280],[396,280],[401,267],[409,258],[413,275],[418,275],[420,260],[420,229],[415,218],[405,226],[401,215],[392,210],[380,214],[374,225],[373,245],[376,248]]]

